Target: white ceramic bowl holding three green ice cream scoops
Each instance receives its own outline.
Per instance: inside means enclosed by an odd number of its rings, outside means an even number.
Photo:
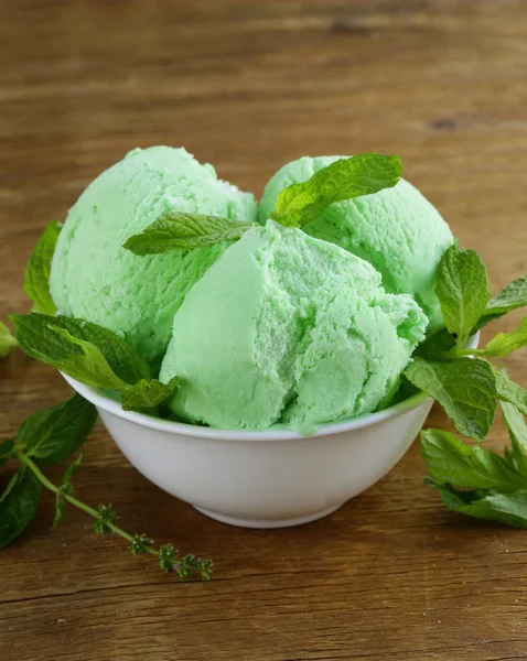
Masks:
[[[477,346],[477,337],[471,338]],[[333,512],[402,457],[432,405],[418,393],[389,409],[322,426],[313,436],[244,432],[122,411],[63,375],[93,402],[126,457],[158,487],[234,525],[282,528]]]

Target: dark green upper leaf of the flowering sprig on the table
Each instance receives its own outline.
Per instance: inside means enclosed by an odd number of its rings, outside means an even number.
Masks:
[[[67,459],[84,445],[97,420],[97,410],[79,394],[36,411],[19,429],[19,443],[29,457],[44,464]]]

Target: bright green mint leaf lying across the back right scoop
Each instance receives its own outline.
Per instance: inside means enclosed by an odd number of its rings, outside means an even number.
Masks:
[[[401,170],[399,156],[370,153],[340,159],[306,182],[281,191],[271,219],[286,227],[303,227],[334,202],[391,188],[399,181]]]

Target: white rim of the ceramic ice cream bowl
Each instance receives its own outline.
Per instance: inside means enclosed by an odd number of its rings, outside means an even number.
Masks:
[[[469,338],[466,346],[469,348],[475,348],[477,347],[478,340],[480,332]],[[168,432],[170,434],[191,436],[194,438],[217,438],[223,441],[305,441],[305,438],[331,436],[334,434],[342,434],[343,432],[352,432],[373,426],[386,420],[398,418],[399,415],[402,415],[412,409],[417,409],[418,407],[432,401],[432,398],[430,398],[426,392],[417,392],[408,399],[402,400],[392,407],[388,407],[387,409],[383,409],[381,411],[366,413],[364,415],[353,418],[352,420],[342,420],[340,422],[329,422],[326,424],[322,424],[313,434],[310,435],[302,435],[299,432],[287,429],[270,429],[261,431],[221,430],[189,424],[185,422],[161,420],[160,418],[154,418],[144,413],[137,413],[135,411],[123,411],[119,402],[116,402],[107,394],[104,394],[101,390],[93,388],[92,386],[86,386],[86,383],[80,383],[76,379],[68,377],[62,371],[61,375],[76,392],[95,404],[98,409],[103,409],[103,411],[112,413],[114,415],[137,424],[138,426],[157,430],[160,432]]]

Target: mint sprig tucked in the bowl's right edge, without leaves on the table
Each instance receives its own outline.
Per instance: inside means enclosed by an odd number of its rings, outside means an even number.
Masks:
[[[494,421],[497,400],[512,401],[527,412],[527,391],[507,376],[499,376],[486,360],[525,346],[527,322],[524,319],[513,333],[498,333],[483,349],[465,347],[471,332],[487,314],[488,278],[480,256],[474,250],[461,250],[458,243],[441,259],[435,293],[445,327],[418,347],[404,373],[444,408],[461,434],[483,441]],[[516,306],[518,302],[516,296]]]

